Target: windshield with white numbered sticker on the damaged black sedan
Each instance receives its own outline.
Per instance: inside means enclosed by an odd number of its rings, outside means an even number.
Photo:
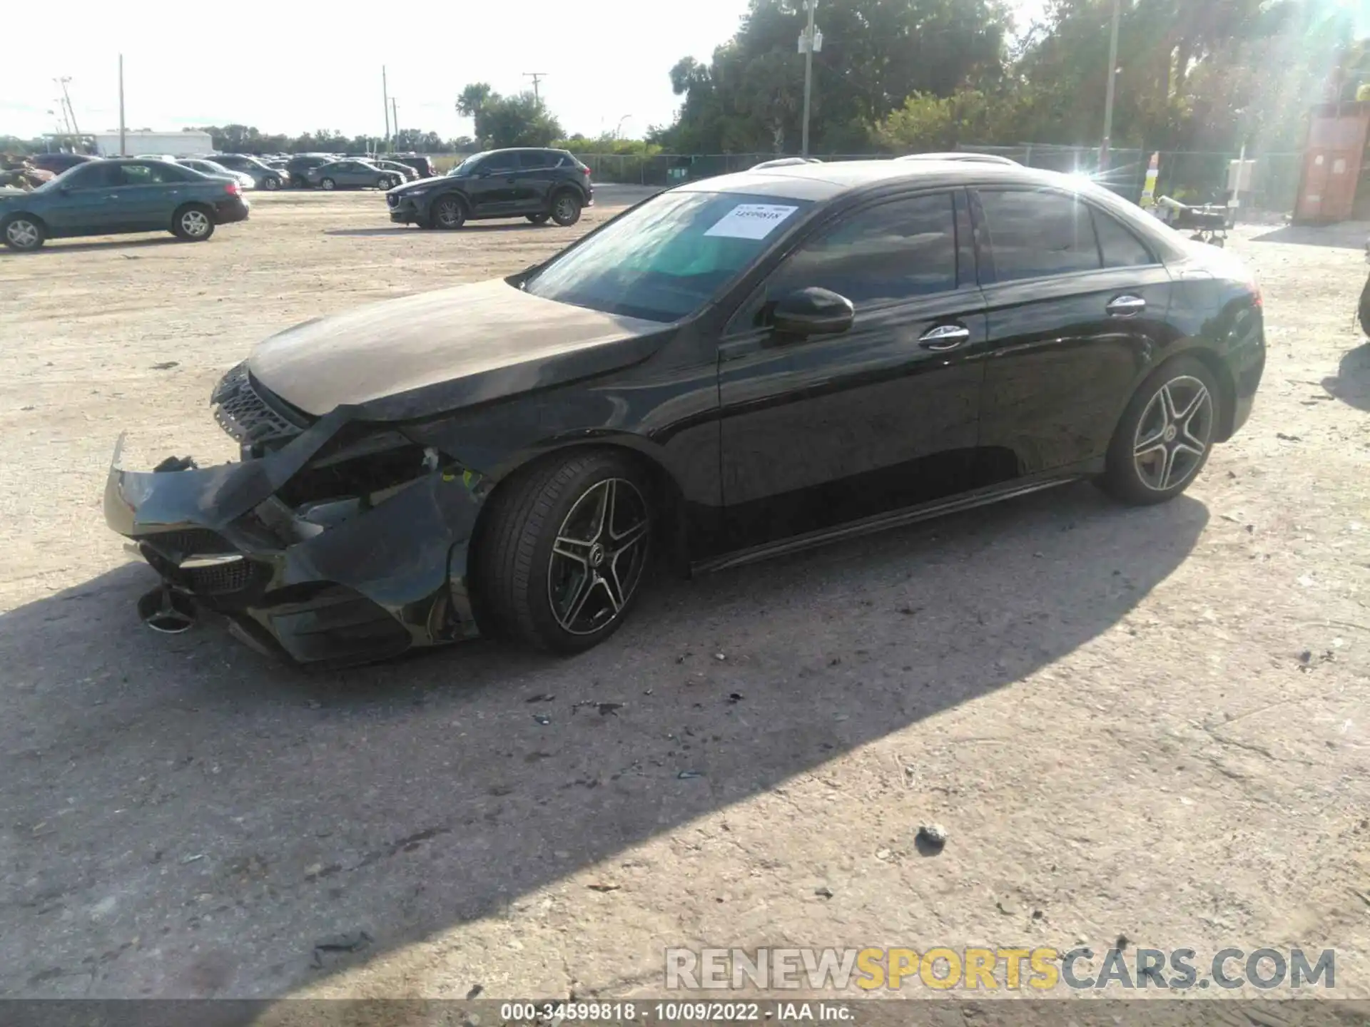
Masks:
[[[741,193],[662,193],[525,283],[544,300],[647,320],[695,314],[812,207]]]

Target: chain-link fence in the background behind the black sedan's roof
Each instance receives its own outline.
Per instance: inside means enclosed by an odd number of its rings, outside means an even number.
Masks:
[[[1017,147],[962,145],[974,153],[997,153],[1026,167],[1049,171],[1095,175],[1099,170],[1097,148],[1060,147],[1051,144],[1021,144]],[[763,160],[774,160],[775,153],[577,153],[596,182],[673,186],[699,178],[745,171]],[[888,153],[823,153],[819,159],[880,160]],[[1237,153],[1199,151],[1160,151],[1158,196],[1170,196],[1181,203],[1222,203],[1228,193],[1228,168]],[[1293,210],[1299,190],[1302,153],[1248,153],[1255,162],[1251,190],[1243,208],[1271,212]],[[1141,199],[1147,182],[1151,152],[1143,149],[1114,149],[1108,155],[1108,170],[1099,181],[1133,203]]]

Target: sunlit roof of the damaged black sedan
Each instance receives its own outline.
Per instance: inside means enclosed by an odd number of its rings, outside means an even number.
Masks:
[[[1108,193],[1086,178],[1041,171],[1019,164],[971,160],[840,160],[830,164],[793,164],[701,178],[677,186],[681,192],[749,193],[792,200],[833,200],[885,185],[964,186],[1037,185],[1069,188],[1092,196]]]

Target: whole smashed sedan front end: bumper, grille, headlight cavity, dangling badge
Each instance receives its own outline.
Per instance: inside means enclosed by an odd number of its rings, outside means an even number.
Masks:
[[[105,520],[162,578],[149,626],[208,609],[259,650],[330,665],[477,634],[467,544],[488,479],[358,408],[263,409],[242,368],[214,404],[241,461],[127,471],[122,437],[111,461]]]

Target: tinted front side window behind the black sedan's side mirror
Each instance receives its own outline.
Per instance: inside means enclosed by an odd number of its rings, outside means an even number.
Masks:
[[[767,285],[767,299],[819,286],[856,307],[956,288],[951,193],[915,196],[858,211],[806,242]]]

